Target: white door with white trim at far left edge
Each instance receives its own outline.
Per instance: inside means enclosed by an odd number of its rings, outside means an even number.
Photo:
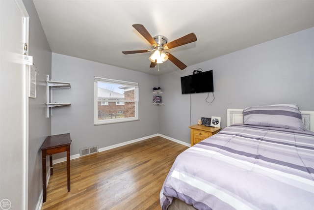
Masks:
[[[27,210],[28,15],[22,0],[0,0],[0,205]]]

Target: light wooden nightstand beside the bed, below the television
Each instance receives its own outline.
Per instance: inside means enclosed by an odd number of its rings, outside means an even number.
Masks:
[[[208,127],[205,125],[191,125],[191,146],[219,132],[220,127]]]

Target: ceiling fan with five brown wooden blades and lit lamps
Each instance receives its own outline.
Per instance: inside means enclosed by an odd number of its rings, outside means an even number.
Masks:
[[[151,45],[154,47],[153,50],[131,50],[131,51],[122,51],[123,54],[135,54],[135,53],[147,53],[153,52],[149,57],[151,60],[150,67],[156,67],[157,63],[162,63],[166,60],[170,60],[176,66],[178,66],[181,70],[186,68],[186,65],[181,62],[179,59],[174,57],[172,54],[168,52],[163,52],[164,50],[168,50],[171,48],[179,47],[184,44],[188,44],[191,42],[195,42],[196,35],[194,33],[189,33],[181,38],[178,38],[172,42],[168,43],[168,39],[165,36],[157,35],[152,37],[151,34],[145,29],[145,27],[141,24],[133,24],[132,27],[136,29]]]

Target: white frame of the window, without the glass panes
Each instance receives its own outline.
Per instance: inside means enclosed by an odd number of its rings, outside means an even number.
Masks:
[[[107,119],[107,120],[98,120],[98,102],[102,100],[98,100],[98,82],[105,82],[105,83],[113,83],[113,84],[120,84],[121,86],[132,86],[134,87],[134,101],[133,100],[124,100],[123,102],[134,102],[134,117],[131,118],[120,118],[120,119]],[[108,99],[108,102],[110,100]],[[101,125],[101,124],[111,124],[111,123],[118,123],[118,122],[127,122],[127,121],[135,121],[139,120],[138,117],[138,104],[139,104],[139,88],[138,83],[134,82],[127,82],[122,80],[113,80],[113,79],[106,79],[101,77],[94,77],[94,125]]]

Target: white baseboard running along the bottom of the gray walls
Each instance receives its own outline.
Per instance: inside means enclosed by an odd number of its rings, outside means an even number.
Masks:
[[[168,137],[168,136],[165,136],[165,135],[157,133],[157,134],[150,135],[150,136],[145,136],[145,137],[142,137],[142,138],[139,138],[139,139],[134,139],[134,140],[131,140],[131,141],[128,141],[128,142],[123,142],[123,143],[120,143],[120,144],[116,144],[116,145],[100,148],[100,149],[98,149],[98,151],[102,152],[102,151],[105,151],[105,150],[111,150],[111,149],[114,149],[114,148],[118,148],[118,147],[122,147],[122,146],[125,146],[125,145],[129,145],[129,144],[132,144],[132,143],[135,143],[135,142],[143,141],[145,139],[153,138],[153,137],[156,137],[156,136],[160,136],[160,137],[168,139],[170,141],[182,144],[182,145],[184,145],[186,147],[191,147],[191,145],[186,143],[186,142],[183,142],[183,141],[180,141],[180,140],[177,140],[177,139],[174,139],[174,138],[171,138],[171,137]],[[79,154],[70,155],[70,160],[76,159],[76,158],[79,158]],[[66,161],[67,161],[66,157],[58,158],[58,159],[55,159],[55,160],[52,161],[52,165],[54,165],[56,163],[66,162]],[[47,186],[48,186],[49,179],[50,179],[50,170],[48,170],[48,172],[47,172]],[[38,202],[37,202],[35,210],[41,210],[42,205],[43,205],[43,190],[41,190],[41,193],[39,195]]]

